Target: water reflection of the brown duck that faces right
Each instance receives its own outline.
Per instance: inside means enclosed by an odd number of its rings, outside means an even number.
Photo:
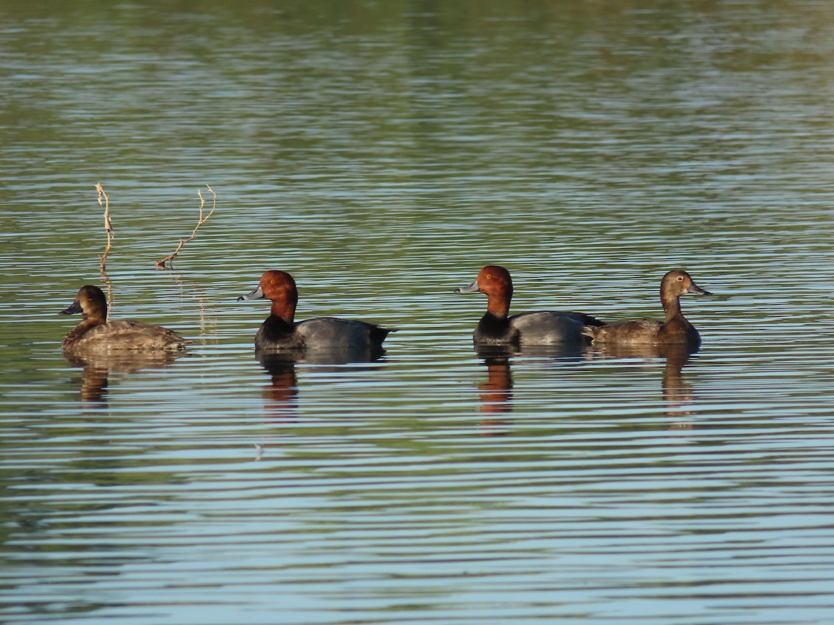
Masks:
[[[687,348],[686,345],[615,345],[611,343],[599,344],[600,355],[612,358],[643,358],[664,359],[661,382],[662,398],[665,413],[671,418],[687,418],[695,411],[692,385],[683,377],[683,368],[696,356],[698,348]],[[691,429],[692,424],[681,421],[670,426],[673,429]]]

